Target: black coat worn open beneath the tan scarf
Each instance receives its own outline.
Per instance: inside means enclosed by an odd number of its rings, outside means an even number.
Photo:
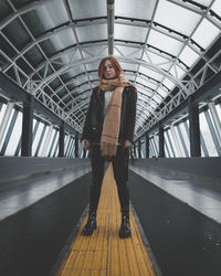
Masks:
[[[133,141],[136,119],[137,93],[133,86],[125,87],[122,94],[122,115],[118,142]],[[101,142],[104,123],[104,93],[98,87],[93,89],[90,107],[84,123],[82,140],[88,139],[92,144]]]

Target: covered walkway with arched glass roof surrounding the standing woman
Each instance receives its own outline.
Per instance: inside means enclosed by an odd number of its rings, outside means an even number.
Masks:
[[[0,275],[221,275],[220,45],[220,0],[0,1]],[[81,236],[108,55],[138,92],[125,241],[109,170]]]

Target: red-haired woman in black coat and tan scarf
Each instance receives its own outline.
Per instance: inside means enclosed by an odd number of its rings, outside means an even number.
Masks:
[[[88,220],[83,235],[96,229],[96,210],[104,178],[105,160],[112,161],[117,184],[122,225],[119,237],[130,236],[128,151],[133,142],[137,91],[122,77],[123,70],[113,56],[98,66],[99,86],[93,89],[82,134],[82,146],[91,150],[93,182],[90,189]]]

